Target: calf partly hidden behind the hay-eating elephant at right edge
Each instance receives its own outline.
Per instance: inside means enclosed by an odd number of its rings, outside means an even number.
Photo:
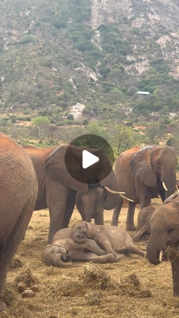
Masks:
[[[139,211],[137,218],[137,229],[136,234],[133,237],[134,242],[139,240],[147,240],[150,237],[150,219],[155,211],[155,208],[152,205],[149,205],[146,208],[143,208]]]

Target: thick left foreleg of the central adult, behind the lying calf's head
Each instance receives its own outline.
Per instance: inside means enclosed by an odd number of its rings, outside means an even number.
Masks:
[[[67,205],[69,188],[51,180],[46,185],[47,206],[50,212],[48,244],[52,243],[55,233],[63,228],[63,219]]]

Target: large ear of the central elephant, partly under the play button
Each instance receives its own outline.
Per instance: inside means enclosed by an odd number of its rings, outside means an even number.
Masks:
[[[68,155],[66,155],[67,149]],[[80,148],[60,146],[48,156],[45,163],[46,169],[50,172],[53,180],[75,191],[88,191],[88,182],[82,167],[82,150]],[[69,173],[68,170],[73,174]],[[74,175],[74,177],[71,174]],[[77,179],[75,176],[77,176]]]

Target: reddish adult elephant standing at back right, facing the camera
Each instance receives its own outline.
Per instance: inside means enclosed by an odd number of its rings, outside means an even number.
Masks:
[[[129,203],[126,229],[135,231],[134,211],[137,203],[141,209],[160,194],[162,201],[175,192],[177,177],[177,157],[172,147],[135,146],[122,153],[115,162],[114,172],[119,187],[134,202]],[[111,225],[118,225],[118,217],[123,204],[120,198],[113,211]]]

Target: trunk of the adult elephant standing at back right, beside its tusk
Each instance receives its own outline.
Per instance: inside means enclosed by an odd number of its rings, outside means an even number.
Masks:
[[[167,172],[166,172],[167,171]],[[176,170],[167,168],[166,170],[162,169],[161,173],[161,182],[165,188],[165,200],[170,197],[176,190],[177,176]]]

